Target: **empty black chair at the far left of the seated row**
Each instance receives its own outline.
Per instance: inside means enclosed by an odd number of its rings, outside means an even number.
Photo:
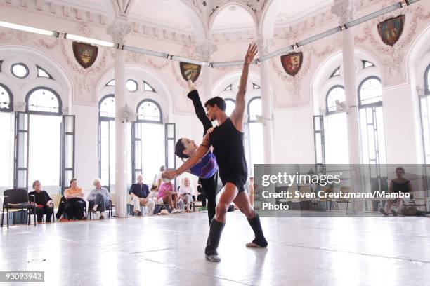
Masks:
[[[27,215],[27,224],[30,225],[30,217],[31,214],[34,215],[34,226],[36,226],[36,212],[34,211],[34,203],[29,203],[28,193],[25,189],[8,189],[3,192],[4,201],[3,201],[3,210],[1,212],[1,227],[3,227],[4,223],[4,209],[6,208],[6,219],[7,226],[9,227],[9,210],[13,211],[26,211]],[[34,198],[33,198],[34,201]],[[21,223],[22,216],[21,216]]]

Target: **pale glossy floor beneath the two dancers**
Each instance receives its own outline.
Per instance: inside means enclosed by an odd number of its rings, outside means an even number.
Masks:
[[[261,221],[269,246],[249,249],[247,220],[228,214],[219,264],[204,213],[4,227],[0,270],[45,271],[43,285],[430,285],[428,218]]]

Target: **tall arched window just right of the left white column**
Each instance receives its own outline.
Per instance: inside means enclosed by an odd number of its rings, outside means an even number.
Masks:
[[[145,183],[152,184],[166,158],[162,111],[157,102],[143,100],[138,104],[133,140],[134,175],[141,172]]]

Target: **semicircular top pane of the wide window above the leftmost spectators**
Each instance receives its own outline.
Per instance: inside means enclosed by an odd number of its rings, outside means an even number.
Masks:
[[[61,100],[51,88],[33,88],[27,94],[26,111],[33,114],[61,114]]]

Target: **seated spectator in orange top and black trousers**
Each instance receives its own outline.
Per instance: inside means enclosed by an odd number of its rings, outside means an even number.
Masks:
[[[65,213],[67,218],[72,220],[73,217],[81,220],[85,219],[84,214],[84,193],[82,188],[77,186],[77,179],[70,180],[70,188],[64,191],[64,197],[66,199]]]

